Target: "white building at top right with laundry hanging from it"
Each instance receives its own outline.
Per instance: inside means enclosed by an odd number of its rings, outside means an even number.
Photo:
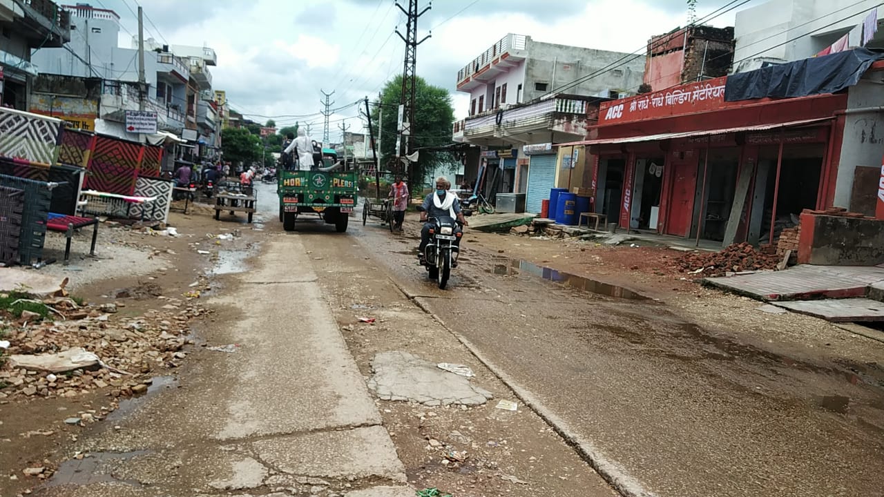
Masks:
[[[875,23],[880,26],[884,9],[874,0],[770,0],[738,11],[734,72],[813,57],[845,34],[850,34],[850,46],[884,48],[884,34],[875,34],[864,43],[859,39],[861,29],[857,30],[876,7]]]

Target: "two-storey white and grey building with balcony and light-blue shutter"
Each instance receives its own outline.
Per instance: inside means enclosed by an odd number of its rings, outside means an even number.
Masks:
[[[523,193],[526,208],[539,212],[555,178],[552,144],[582,138],[598,103],[635,93],[643,76],[644,61],[631,54],[507,34],[458,72],[469,117],[454,123],[453,140],[485,149],[479,163],[466,165],[466,179],[485,172],[479,186],[492,201],[497,193]],[[537,145],[530,157],[526,145]]]

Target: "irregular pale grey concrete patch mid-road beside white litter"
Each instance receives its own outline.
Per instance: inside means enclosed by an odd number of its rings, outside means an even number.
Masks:
[[[440,370],[408,352],[382,352],[371,361],[375,371],[369,388],[384,401],[414,401],[428,406],[481,405],[491,392],[474,386],[469,378]]]

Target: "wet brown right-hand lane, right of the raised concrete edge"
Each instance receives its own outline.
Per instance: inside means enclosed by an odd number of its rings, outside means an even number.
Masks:
[[[615,287],[568,286],[567,275],[470,250],[465,238],[445,291],[415,264],[415,239],[377,220],[314,240],[324,257],[360,250],[384,264],[636,493],[884,495],[884,361],[773,353]]]

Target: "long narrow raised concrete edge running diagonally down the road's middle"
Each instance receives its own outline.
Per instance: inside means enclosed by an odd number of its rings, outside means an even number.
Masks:
[[[389,278],[389,277],[388,277]],[[445,321],[443,321],[440,317],[438,317],[435,313],[430,310],[430,307],[427,303],[422,302],[422,295],[413,295],[408,292],[405,287],[402,287],[399,282],[396,280],[389,278],[392,282],[393,286],[398,288],[399,291],[408,298],[409,301],[415,302],[415,305],[419,307],[423,312],[427,313],[436,322],[446,329],[448,333],[451,333],[455,339],[461,342],[461,344],[469,350],[469,353],[476,357],[476,359],[483,363],[489,371],[492,371],[492,374],[496,376],[500,381],[503,382],[510,390],[513,391],[516,397],[522,401],[523,404],[527,405],[530,409],[532,409],[537,416],[541,417],[546,424],[549,424],[552,429],[559,434],[559,436],[568,442],[568,445],[574,447],[575,451],[578,455],[581,456],[583,461],[588,463],[593,470],[595,470],[599,476],[605,478],[605,481],[608,485],[612,486],[617,493],[620,493],[623,497],[657,497],[656,494],[651,493],[644,489],[641,483],[631,475],[629,472],[625,470],[619,463],[611,461],[605,455],[603,455],[598,447],[592,444],[590,440],[586,440],[580,435],[576,434],[576,432],[566,423],[563,419],[556,416],[552,410],[547,409],[545,405],[537,400],[537,398],[531,394],[527,389],[519,386],[514,378],[510,377],[506,372],[501,370],[497,365],[492,363],[485,357],[479,350],[474,346],[466,337],[461,335],[461,333],[455,332],[452,328],[446,325]]]

